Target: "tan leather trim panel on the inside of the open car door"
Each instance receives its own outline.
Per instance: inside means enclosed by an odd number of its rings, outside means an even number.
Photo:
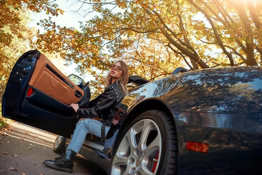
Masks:
[[[65,81],[73,85],[73,88],[49,70],[46,65],[58,73]],[[70,81],[43,54],[40,55],[36,62],[29,85],[65,104],[76,103],[81,99],[74,95],[76,90],[83,95],[83,90]]]

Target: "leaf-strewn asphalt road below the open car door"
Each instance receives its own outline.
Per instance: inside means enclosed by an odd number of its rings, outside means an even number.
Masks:
[[[42,164],[59,154],[52,151],[55,134],[13,122],[11,130],[0,134],[0,175],[70,174]],[[100,167],[77,154],[72,174],[106,174]]]

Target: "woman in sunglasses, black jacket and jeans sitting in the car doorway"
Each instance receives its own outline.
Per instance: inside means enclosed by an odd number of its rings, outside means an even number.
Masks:
[[[43,164],[65,172],[72,172],[73,158],[79,152],[87,133],[104,137],[111,123],[116,124],[113,116],[117,112],[117,105],[127,93],[128,67],[122,61],[116,61],[106,76],[106,85],[103,93],[90,101],[89,108],[79,108],[78,104],[70,104],[79,119],[73,132],[72,139],[66,151],[54,160],[44,160]],[[100,117],[101,120],[91,119]],[[101,131],[103,130],[103,132]]]

